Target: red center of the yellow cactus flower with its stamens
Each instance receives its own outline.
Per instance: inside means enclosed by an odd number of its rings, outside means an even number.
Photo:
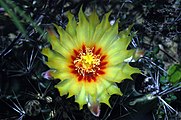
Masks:
[[[97,76],[105,74],[106,55],[101,54],[101,48],[88,48],[82,45],[82,49],[74,50],[71,56],[72,63],[69,66],[71,72],[78,77],[78,81],[96,81]]]

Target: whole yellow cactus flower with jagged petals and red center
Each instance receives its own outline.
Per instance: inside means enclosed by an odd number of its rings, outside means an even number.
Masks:
[[[65,30],[55,25],[59,37],[48,31],[52,49],[42,50],[48,57],[46,64],[53,69],[50,74],[61,80],[55,85],[60,95],[75,95],[80,109],[87,103],[110,106],[112,94],[122,95],[115,82],[140,72],[125,62],[135,53],[127,50],[131,27],[118,33],[118,21],[110,25],[109,15],[100,21],[95,11],[86,16],[81,9],[77,22],[69,12]]]

